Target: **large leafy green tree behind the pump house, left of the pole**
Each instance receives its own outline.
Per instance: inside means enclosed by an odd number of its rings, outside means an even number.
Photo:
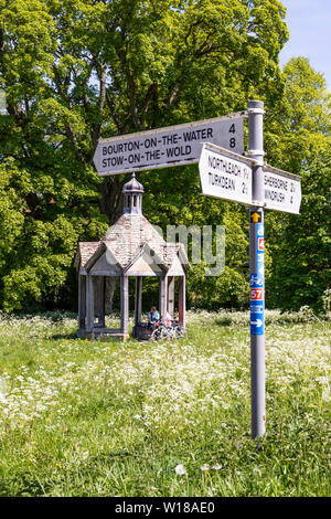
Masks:
[[[93,167],[100,136],[224,115],[253,97],[279,106],[284,18],[276,0],[0,0],[4,310],[73,304],[77,241],[100,237],[121,211],[122,176]],[[225,274],[194,267],[191,304],[244,304],[245,210],[202,199],[196,167],[142,176],[153,223],[226,225]]]

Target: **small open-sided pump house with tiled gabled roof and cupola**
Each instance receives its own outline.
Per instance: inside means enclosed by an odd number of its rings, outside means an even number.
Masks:
[[[174,280],[178,277],[179,321],[185,327],[185,248],[168,243],[142,215],[143,187],[135,178],[122,188],[124,213],[98,242],[79,242],[75,256],[78,271],[78,336],[128,337],[129,279],[136,279],[134,336],[142,337],[142,279],[159,278],[159,314],[174,317]],[[120,280],[120,328],[107,328],[106,309],[116,282]],[[150,306],[157,301],[150,301]]]

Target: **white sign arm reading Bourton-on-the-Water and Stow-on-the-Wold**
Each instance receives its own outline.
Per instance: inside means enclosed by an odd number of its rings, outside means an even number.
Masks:
[[[99,174],[199,162],[202,141],[244,152],[245,112],[137,134],[100,139],[94,156]]]

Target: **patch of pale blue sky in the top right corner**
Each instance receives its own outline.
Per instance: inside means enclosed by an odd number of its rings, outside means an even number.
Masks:
[[[306,56],[325,76],[331,89],[331,0],[280,0],[287,8],[290,39],[280,53],[280,64]]]

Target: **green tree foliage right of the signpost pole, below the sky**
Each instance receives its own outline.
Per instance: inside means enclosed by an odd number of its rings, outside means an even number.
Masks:
[[[290,60],[284,73],[285,95],[267,121],[269,161],[301,176],[302,203],[299,216],[267,216],[273,256],[267,297],[284,309],[322,310],[331,284],[331,95],[307,59]]]

